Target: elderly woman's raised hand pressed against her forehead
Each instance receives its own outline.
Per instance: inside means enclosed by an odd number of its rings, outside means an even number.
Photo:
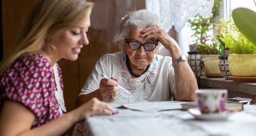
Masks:
[[[148,26],[142,31],[142,33],[143,34],[141,34],[141,36],[147,39],[158,39],[159,42],[161,42],[163,46],[168,50],[171,48],[172,45],[177,44],[177,42],[175,42],[175,40],[159,26]]]

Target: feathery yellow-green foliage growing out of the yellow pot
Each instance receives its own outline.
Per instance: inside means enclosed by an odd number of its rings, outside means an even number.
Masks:
[[[230,48],[233,54],[256,54],[256,46],[239,31],[231,15],[229,19],[221,18],[220,22],[215,24],[215,28],[218,31],[217,37],[224,43],[222,47]]]

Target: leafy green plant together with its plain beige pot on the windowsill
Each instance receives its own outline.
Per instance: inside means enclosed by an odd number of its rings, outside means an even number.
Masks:
[[[201,62],[199,64],[201,64],[207,77],[223,77],[218,68],[218,44],[210,34],[213,29],[215,17],[218,15],[219,4],[221,4],[220,1],[214,1],[212,14],[209,18],[204,19],[198,14],[194,19],[189,20],[189,23],[191,24],[190,27],[193,31],[195,31],[195,33],[192,35],[192,37],[196,38],[193,45],[198,47],[196,53],[202,54],[200,55]],[[195,54],[195,52],[189,52],[189,54]],[[190,62],[189,64],[194,71],[193,65],[191,65]],[[201,68],[200,65],[199,68]]]

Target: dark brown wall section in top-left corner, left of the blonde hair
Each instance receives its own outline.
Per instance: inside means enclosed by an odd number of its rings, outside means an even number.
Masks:
[[[3,57],[15,47],[13,44],[34,3],[35,0],[2,0]]]

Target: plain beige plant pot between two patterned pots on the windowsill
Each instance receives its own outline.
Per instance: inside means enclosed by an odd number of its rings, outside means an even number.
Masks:
[[[209,78],[223,77],[218,67],[218,55],[202,55],[201,66],[204,69],[205,75]]]

